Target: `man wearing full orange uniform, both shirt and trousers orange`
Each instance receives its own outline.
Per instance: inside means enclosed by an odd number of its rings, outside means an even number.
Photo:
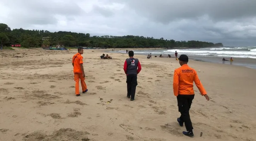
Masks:
[[[81,79],[82,92],[87,92],[87,86],[85,84],[85,72],[83,70],[83,48],[78,48],[78,53],[73,56],[72,65],[74,67],[74,80],[76,81],[76,96],[79,94],[79,79]]]

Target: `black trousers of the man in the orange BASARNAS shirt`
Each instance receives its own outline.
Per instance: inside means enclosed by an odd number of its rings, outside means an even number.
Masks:
[[[189,115],[189,110],[192,104],[192,100],[194,99],[194,94],[179,94],[177,96],[178,107],[180,112],[180,121],[185,123],[185,127],[187,131],[192,131],[192,122]]]

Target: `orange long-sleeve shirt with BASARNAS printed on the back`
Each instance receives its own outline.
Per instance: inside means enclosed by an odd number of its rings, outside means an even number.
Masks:
[[[195,82],[202,96],[205,95],[206,91],[198,78],[196,70],[188,65],[182,65],[180,68],[175,69],[173,76],[174,96],[178,96],[178,94],[194,94],[193,82]]]

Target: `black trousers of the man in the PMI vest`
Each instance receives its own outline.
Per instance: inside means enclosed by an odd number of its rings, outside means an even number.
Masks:
[[[137,74],[129,74],[126,76],[127,83],[127,96],[130,96],[132,99],[135,97],[137,82]]]

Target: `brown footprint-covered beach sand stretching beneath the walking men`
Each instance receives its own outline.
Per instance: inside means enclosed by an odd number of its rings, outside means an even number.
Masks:
[[[131,102],[123,72],[126,54],[84,50],[88,92],[76,97],[71,65],[76,50],[15,49],[0,52],[1,141],[256,140],[255,69],[189,62],[210,97],[207,102],[195,86],[190,138],[176,122],[172,82],[179,63],[174,58],[134,56],[142,70]],[[101,60],[103,53],[113,59]]]

